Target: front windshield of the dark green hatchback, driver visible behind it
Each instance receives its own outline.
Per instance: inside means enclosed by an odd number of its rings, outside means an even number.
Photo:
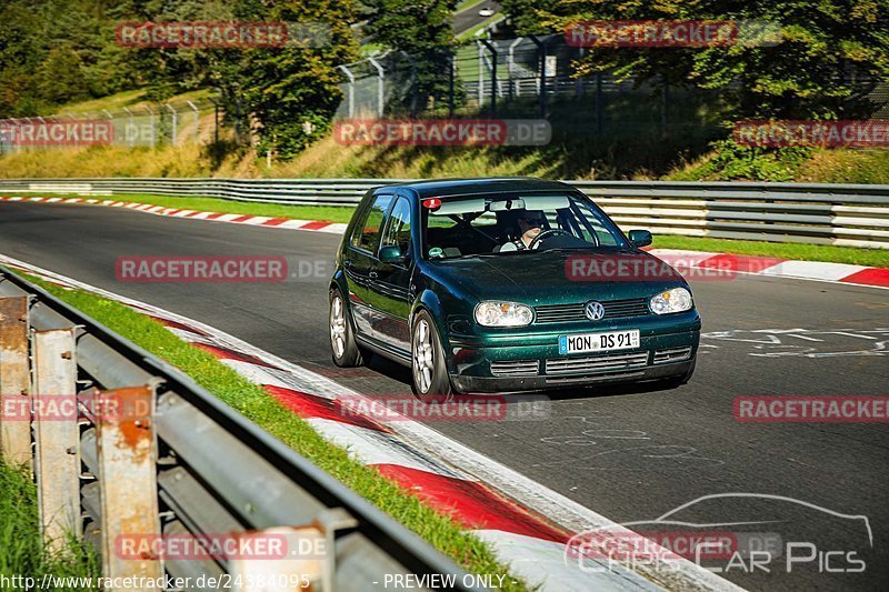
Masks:
[[[628,247],[608,215],[581,194],[428,198],[422,211],[429,259]]]

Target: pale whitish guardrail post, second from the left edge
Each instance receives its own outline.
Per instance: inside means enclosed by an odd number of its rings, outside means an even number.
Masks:
[[[63,551],[80,538],[80,429],[74,328],[33,334],[34,475],[46,545]]]

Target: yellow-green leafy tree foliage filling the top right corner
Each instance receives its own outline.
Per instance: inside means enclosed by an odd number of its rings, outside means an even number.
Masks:
[[[532,9],[527,0],[505,3]],[[533,13],[551,32],[585,20],[731,20],[778,26],[775,44],[593,48],[581,61],[581,71],[613,69],[637,80],[657,78],[713,89],[739,83],[739,117],[866,117],[872,108],[866,99],[869,90],[889,77],[886,0],[578,0],[548,3]]]

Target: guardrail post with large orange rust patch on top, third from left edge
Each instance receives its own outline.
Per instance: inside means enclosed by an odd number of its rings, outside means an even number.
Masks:
[[[103,410],[96,418],[102,573],[156,580],[163,574],[161,558],[122,552],[160,536],[154,384],[103,391],[98,399]]]

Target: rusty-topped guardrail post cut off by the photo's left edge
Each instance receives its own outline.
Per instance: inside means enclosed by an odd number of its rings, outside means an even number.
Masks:
[[[28,324],[28,297],[0,298],[0,403],[30,417]],[[30,421],[3,421],[0,413],[0,456],[31,469]]]

